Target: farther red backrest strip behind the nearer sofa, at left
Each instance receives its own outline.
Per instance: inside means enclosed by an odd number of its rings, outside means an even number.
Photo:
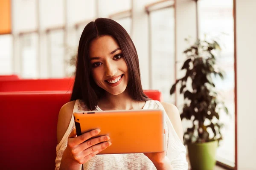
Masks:
[[[7,91],[72,91],[74,79],[16,79],[0,81],[0,92]]]

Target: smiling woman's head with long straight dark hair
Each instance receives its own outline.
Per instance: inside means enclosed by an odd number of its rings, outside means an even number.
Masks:
[[[122,81],[115,88],[112,88],[115,84],[111,86],[105,81],[112,83],[119,76]],[[90,22],[81,35],[71,101],[83,99],[90,110],[95,110],[102,96],[124,91],[137,102],[148,100],[142,89],[138,55],[131,37],[115,21],[99,18]]]

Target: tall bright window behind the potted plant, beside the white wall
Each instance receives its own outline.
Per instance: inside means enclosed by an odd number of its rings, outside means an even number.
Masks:
[[[222,51],[218,57],[219,66],[226,72],[225,79],[215,79],[215,85],[224,99],[230,117],[220,113],[224,122],[223,140],[217,150],[217,160],[235,166],[235,103],[234,103],[234,22],[233,0],[198,1],[200,37],[218,39]],[[224,33],[224,34],[223,34]]]

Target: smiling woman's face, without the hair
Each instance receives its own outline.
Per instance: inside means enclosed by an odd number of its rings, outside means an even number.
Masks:
[[[128,67],[116,40],[109,35],[96,38],[89,52],[96,84],[113,95],[124,92],[129,80]]]

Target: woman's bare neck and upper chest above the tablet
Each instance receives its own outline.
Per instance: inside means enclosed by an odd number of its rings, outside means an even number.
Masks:
[[[98,106],[103,111],[109,110],[133,110],[142,109],[145,102],[135,101],[128,94],[127,89],[119,95],[113,95],[108,92],[99,100]]]

